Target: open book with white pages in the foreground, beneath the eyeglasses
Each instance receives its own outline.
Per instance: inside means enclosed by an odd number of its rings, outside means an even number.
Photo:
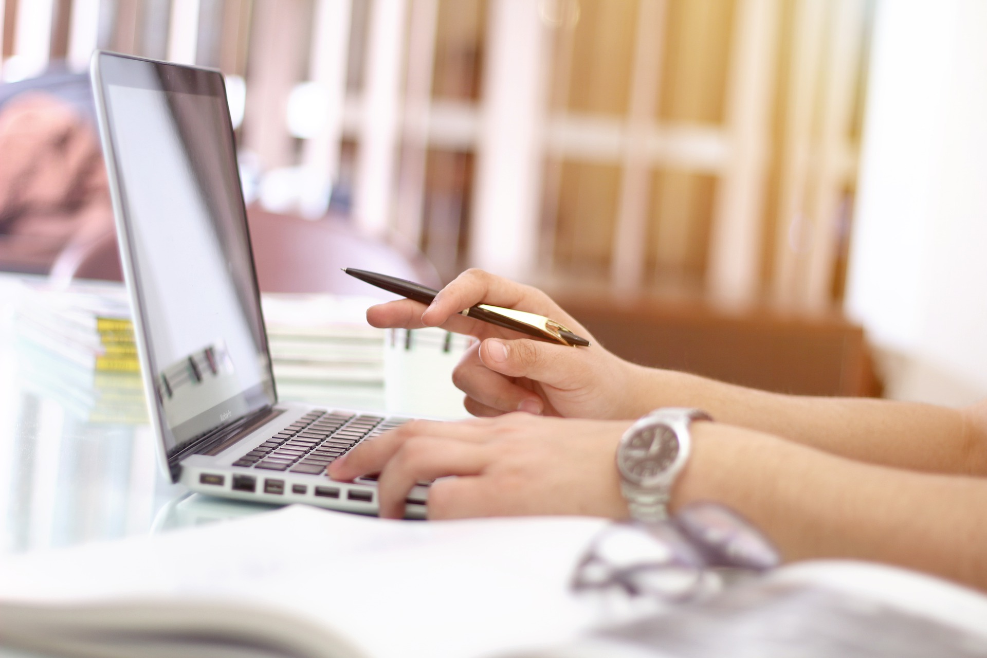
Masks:
[[[572,570],[605,525],[294,506],[33,553],[0,563],[0,645],[104,658],[987,655],[987,597],[864,562],[797,563],[687,606],[575,595]]]

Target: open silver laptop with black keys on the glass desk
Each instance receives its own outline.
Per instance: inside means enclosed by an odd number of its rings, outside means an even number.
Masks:
[[[97,51],[93,91],[158,457],[193,491],[377,513],[326,467],[405,418],[278,402],[219,71]],[[426,488],[407,516],[424,516]]]

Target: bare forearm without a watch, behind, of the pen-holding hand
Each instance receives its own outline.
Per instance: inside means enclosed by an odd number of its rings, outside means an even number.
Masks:
[[[987,422],[973,408],[786,396],[667,370],[642,369],[638,377],[637,415],[655,406],[699,406],[718,421],[854,460],[987,475]]]

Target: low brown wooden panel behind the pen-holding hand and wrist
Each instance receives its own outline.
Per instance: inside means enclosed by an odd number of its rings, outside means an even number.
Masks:
[[[839,318],[731,315],[644,299],[556,299],[601,344],[635,363],[779,393],[880,393],[863,329]]]

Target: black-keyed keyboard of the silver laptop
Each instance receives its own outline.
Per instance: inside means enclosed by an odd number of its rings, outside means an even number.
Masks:
[[[362,439],[394,429],[408,418],[313,409],[233,463],[267,471],[316,475]]]

